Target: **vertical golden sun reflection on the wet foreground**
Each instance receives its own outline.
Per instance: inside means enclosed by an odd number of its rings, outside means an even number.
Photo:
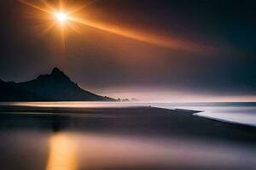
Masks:
[[[58,133],[49,139],[49,158],[46,170],[77,170],[78,148],[73,139],[65,133]]]

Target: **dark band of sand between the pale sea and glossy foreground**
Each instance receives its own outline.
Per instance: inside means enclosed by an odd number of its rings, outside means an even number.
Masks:
[[[159,134],[223,139],[256,144],[256,128],[193,116],[197,111],[154,107],[44,108],[0,107],[1,128],[42,128],[61,131]]]

